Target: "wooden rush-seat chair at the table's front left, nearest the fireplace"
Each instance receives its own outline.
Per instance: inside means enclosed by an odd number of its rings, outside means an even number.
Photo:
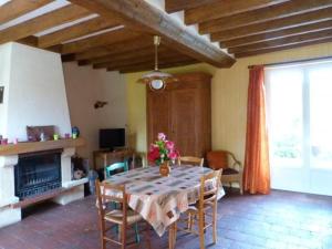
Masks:
[[[101,229],[101,242],[102,249],[106,249],[106,242],[113,242],[120,245],[122,249],[126,248],[126,230],[128,226],[134,226],[135,232],[137,232],[137,222],[142,220],[142,216],[127,206],[127,195],[125,191],[125,185],[112,185],[108,183],[100,183],[96,180],[96,197],[98,207],[98,220]],[[108,195],[107,193],[117,193],[117,196]],[[120,208],[106,205],[107,203],[117,203]],[[110,208],[111,207],[111,208]],[[106,224],[113,225],[106,227]],[[106,235],[112,228],[120,227],[120,240],[112,239]],[[146,228],[146,239],[148,248],[151,248],[148,239],[148,227]],[[137,242],[137,238],[136,238]]]

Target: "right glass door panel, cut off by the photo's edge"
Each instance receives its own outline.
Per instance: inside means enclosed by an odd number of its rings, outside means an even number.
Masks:
[[[332,64],[308,68],[311,191],[332,195]]]

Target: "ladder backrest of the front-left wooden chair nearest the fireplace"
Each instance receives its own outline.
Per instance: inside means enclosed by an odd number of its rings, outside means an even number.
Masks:
[[[127,196],[125,185],[113,185],[110,183],[101,183],[98,179],[95,181],[96,189],[96,198],[97,198],[97,207],[100,221],[104,222],[105,209],[107,208],[116,208],[116,205],[106,205],[107,203],[117,203],[121,204],[122,212],[123,212],[123,222],[126,222],[127,216]]]

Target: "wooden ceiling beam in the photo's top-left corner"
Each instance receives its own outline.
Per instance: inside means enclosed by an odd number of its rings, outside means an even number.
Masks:
[[[12,0],[0,7],[0,23],[9,22],[53,0]]]

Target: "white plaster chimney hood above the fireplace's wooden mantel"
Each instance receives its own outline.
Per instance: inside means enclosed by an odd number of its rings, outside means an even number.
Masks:
[[[8,44],[4,44],[7,46]],[[2,131],[9,141],[27,141],[27,125],[55,125],[60,134],[71,131],[60,54],[10,43],[9,87],[6,92],[7,122]]]

